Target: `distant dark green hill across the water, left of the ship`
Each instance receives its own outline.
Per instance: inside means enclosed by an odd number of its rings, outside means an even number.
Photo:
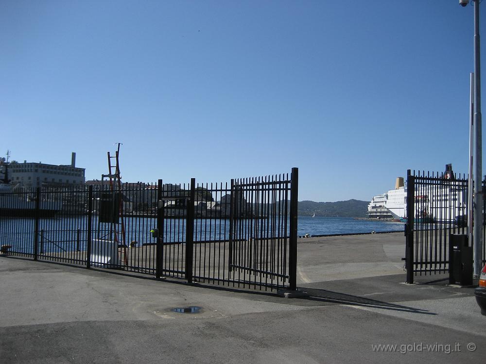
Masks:
[[[299,216],[365,217],[369,201],[348,199],[336,202],[299,201]]]

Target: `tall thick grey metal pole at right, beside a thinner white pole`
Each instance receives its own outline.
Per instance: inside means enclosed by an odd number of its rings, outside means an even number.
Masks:
[[[482,183],[482,127],[481,127],[481,65],[479,55],[479,0],[474,1],[474,276],[483,268],[483,183]]]

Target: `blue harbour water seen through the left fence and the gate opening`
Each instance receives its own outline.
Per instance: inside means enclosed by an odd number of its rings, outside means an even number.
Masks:
[[[165,239],[166,242],[184,241],[185,221],[179,219],[166,219]],[[10,244],[21,247],[21,251],[33,249],[34,219],[21,218],[2,218],[0,219],[0,239],[2,244]],[[102,231],[98,232],[97,216],[93,216],[93,235],[94,239],[104,238],[109,229],[107,224]],[[299,236],[310,235],[331,235],[349,234],[359,232],[387,232],[403,231],[403,223],[388,221],[366,221],[355,220],[349,217],[311,217],[299,216],[298,230]],[[156,227],[156,219],[129,218],[126,220],[126,242],[137,241],[139,245],[144,243],[155,243],[156,239],[150,234],[150,229]],[[266,229],[271,227],[260,226],[266,233]],[[78,232],[78,229],[80,230]],[[60,217],[54,219],[41,219],[39,230],[42,230],[42,237],[39,241],[44,242],[45,252],[86,249],[87,240],[87,219],[85,216],[79,217]],[[196,219],[194,224],[195,240],[220,240],[229,237],[229,220],[201,220]],[[79,241],[79,243],[77,243]]]

